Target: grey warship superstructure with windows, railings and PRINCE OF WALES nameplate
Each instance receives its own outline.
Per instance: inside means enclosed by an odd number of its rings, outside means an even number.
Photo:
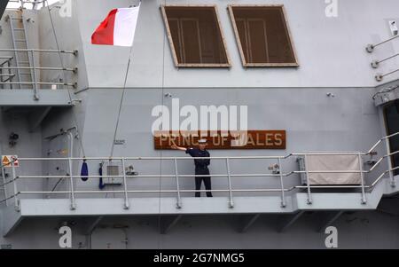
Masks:
[[[398,1],[7,2],[1,248],[399,247]],[[91,43],[138,5],[131,47]],[[195,198],[153,125],[206,107],[253,143],[213,140]]]

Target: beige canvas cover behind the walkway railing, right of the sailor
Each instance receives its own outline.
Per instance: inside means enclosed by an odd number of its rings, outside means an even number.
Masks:
[[[358,155],[307,155],[308,171],[360,171]],[[310,185],[360,185],[360,173],[309,173]]]

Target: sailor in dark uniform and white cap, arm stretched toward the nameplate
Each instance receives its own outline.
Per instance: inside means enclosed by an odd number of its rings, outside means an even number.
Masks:
[[[171,146],[172,149],[177,149],[181,151],[185,151],[185,153],[190,154],[194,158],[198,157],[206,157],[209,158],[210,154],[207,152],[207,139],[200,139],[198,141],[199,148],[184,148],[181,146],[177,146],[176,144],[173,144]],[[209,169],[207,169],[207,166],[210,164],[210,159],[194,159],[194,164],[195,164],[195,197],[199,198],[200,197],[200,188],[202,181],[204,181],[205,189],[207,190],[207,197],[211,198],[212,197],[212,188],[211,188],[211,177],[209,175]],[[197,177],[200,176],[200,177]]]

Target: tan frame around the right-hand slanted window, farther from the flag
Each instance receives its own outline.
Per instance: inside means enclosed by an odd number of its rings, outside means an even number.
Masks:
[[[285,27],[286,35],[288,36],[291,48],[293,50],[293,59],[295,62],[293,62],[293,63],[249,63],[249,62],[246,62],[246,57],[245,57],[243,47],[241,44],[241,39],[239,38],[239,29],[237,27],[236,18],[234,17],[234,12],[233,12],[233,8],[235,8],[235,7],[254,7],[254,8],[256,8],[256,7],[279,7],[279,8],[281,8],[283,22],[286,22],[286,25],[285,25],[286,26]],[[239,55],[241,57],[242,65],[244,67],[300,67],[296,49],[293,44],[293,35],[291,34],[291,30],[290,30],[289,23],[287,20],[286,7],[284,6],[284,4],[229,4],[227,6],[227,9],[230,14],[231,24],[232,24],[234,35],[236,38],[236,43],[238,44],[238,47],[239,47]]]

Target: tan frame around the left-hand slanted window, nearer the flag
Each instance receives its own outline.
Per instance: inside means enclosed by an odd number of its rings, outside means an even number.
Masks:
[[[215,22],[217,23],[217,27],[219,29],[220,35],[221,35],[221,41],[223,43],[223,49],[224,52],[226,54],[226,60],[227,63],[223,63],[223,64],[219,64],[219,63],[179,63],[178,59],[177,59],[177,55],[176,55],[176,47],[175,44],[173,43],[173,38],[172,38],[172,34],[170,31],[170,27],[168,24],[168,15],[166,13],[165,8],[168,7],[212,7],[214,8],[215,11]],[[222,23],[219,17],[219,12],[217,10],[217,5],[216,4],[162,4],[160,5],[160,12],[162,13],[162,18],[163,18],[163,22],[165,24],[165,28],[167,31],[167,35],[168,35],[168,43],[170,46],[170,50],[172,52],[172,57],[173,57],[173,61],[175,62],[175,67],[231,67],[231,58],[229,55],[229,51],[227,49],[227,43],[226,43],[226,39],[224,37],[223,34],[223,27],[222,27]]]

